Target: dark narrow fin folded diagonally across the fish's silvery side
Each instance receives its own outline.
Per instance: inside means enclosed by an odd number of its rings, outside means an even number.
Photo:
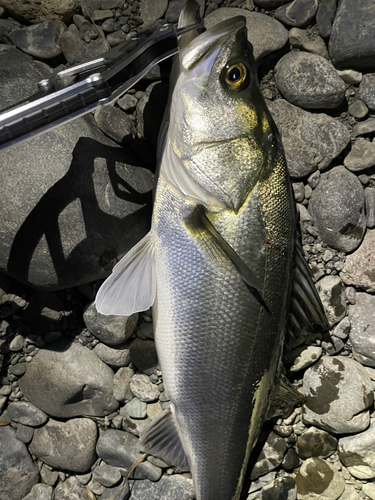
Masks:
[[[185,218],[185,225],[193,234],[200,238],[214,259],[220,260],[224,254],[226,258],[232,262],[252,295],[264,309],[270,313],[260,293],[261,283],[259,279],[216,230],[215,226],[206,216],[204,208],[201,205],[198,205],[195,210]]]

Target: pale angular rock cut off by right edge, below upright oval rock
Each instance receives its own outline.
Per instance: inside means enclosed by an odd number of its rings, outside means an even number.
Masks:
[[[367,230],[361,246],[346,257],[340,277],[346,285],[353,285],[369,293],[375,292],[375,231]]]

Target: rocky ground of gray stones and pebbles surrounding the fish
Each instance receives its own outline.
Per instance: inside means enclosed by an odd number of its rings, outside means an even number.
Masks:
[[[289,340],[287,375],[305,401],[265,424],[243,498],[374,500],[373,2],[200,3],[208,27],[247,18],[331,326],[330,342]],[[56,68],[175,22],[183,4],[0,0],[1,106]],[[0,154],[0,500],[194,498],[189,473],[153,457],[125,485],[168,394],[151,311],[104,317],[92,303],[148,230],[167,74],[156,68],[114,106]]]

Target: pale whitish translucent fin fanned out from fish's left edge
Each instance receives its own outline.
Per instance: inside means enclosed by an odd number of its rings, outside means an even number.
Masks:
[[[130,316],[149,309],[155,295],[155,259],[150,231],[115,265],[99,288],[95,305],[101,314]]]

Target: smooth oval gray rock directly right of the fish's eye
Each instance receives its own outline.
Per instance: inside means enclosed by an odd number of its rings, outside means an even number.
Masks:
[[[345,83],[332,64],[317,54],[289,52],[275,67],[283,96],[302,108],[336,108],[345,97]]]

